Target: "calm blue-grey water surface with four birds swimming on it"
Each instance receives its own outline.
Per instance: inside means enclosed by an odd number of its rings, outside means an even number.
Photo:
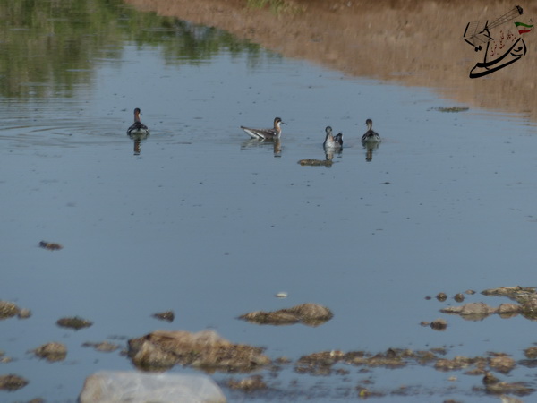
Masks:
[[[156,329],[214,329],[293,360],[388,347],[518,360],[537,341],[522,317],[439,313],[466,289],[534,285],[535,124],[441,113],[454,105],[431,90],[343,77],[115,2],[77,4],[0,3],[10,15],[0,37],[0,297],[32,311],[0,322],[0,349],[14,359],[1,373],[30,381],[1,400],[75,401],[90,373],[132,369],[82,343]],[[151,131],[138,145],[125,133],[134,107]],[[287,124],[281,150],[239,128],[274,116]],[[360,142],[368,117],[384,139],[372,155]],[[327,125],[344,133],[343,152],[329,168],[299,165],[325,159]],[[446,303],[425,299],[440,291]],[[466,302],[507,302],[483,298]],[[305,302],[334,319],[316,328],[236,319]],[[175,322],[151,317],[166,310]],[[95,324],[55,325],[73,315]],[[446,331],[420,326],[438,317]],[[63,363],[27,352],[47,341],[67,345]],[[381,401],[498,401],[463,373],[349,370],[309,377],[290,366],[272,381],[286,398],[225,391],[231,401],[352,400],[369,379],[372,390],[412,391]],[[508,378],[537,386],[524,367]]]

